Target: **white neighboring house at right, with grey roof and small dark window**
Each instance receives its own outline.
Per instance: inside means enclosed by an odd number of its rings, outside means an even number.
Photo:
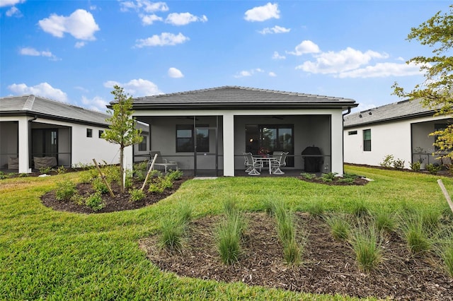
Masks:
[[[418,160],[438,163],[430,133],[445,129],[452,119],[434,117],[435,111],[420,100],[400,102],[348,114],[344,117],[345,163],[379,166],[386,155],[404,160],[405,167]]]

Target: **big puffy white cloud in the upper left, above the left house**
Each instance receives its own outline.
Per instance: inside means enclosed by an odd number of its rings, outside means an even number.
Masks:
[[[64,33],[69,33],[79,40],[96,40],[94,33],[99,30],[93,15],[84,9],[78,9],[67,17],[52,14],[38,24],[42,30],[55,37],[63,37]]]

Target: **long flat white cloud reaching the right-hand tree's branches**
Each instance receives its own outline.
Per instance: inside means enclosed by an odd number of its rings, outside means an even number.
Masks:
[[[427,65],[429,66],[429,65]],[[416,64],[378,63],[374,66],[340,72],[339,78],[372,78],[387,76],[417,76],[422,75],[420,66]]]

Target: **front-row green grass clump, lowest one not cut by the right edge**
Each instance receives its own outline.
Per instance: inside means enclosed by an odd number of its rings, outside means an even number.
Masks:
[[[382,249],[374,228],[357,228],[352,234],[351,244],[360,269],[369,272],[377,268],[382,259]]]

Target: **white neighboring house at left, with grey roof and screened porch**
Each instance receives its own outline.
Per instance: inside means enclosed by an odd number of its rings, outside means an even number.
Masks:
[[[0,98],[0,169],[116,164],[119,146],[101,138],[109,116],[35,95]]]

